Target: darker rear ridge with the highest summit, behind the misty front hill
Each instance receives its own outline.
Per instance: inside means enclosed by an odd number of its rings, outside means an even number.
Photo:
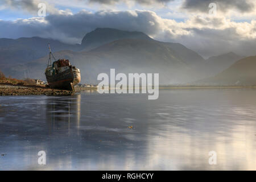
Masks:
[[[85,51],[89,49],[102,46],[104,44],[121,39],[141,39],[152,40],[148,35],[143,32],[130,32],[122,31],[114,28],[96,28],[96,30],[89,32],[82,39],[82,45],[65,44],[57,40],[44,39],[39,37],[32,38],[19,38],[19,39],[0,39],[0,65],[8,67],[13,64],[27,63],[35,59],[39,59],[42,56],[47,55],[47,44],[51,44],[52,51],[57,52],[61,50],[81,51],[84,48]],[[161,43],[161,42],[159,42]],[[203,58],[196,52],[184,47],[178,43],[163,43],[168,45],[176,55],[179,55],[185,63],[193,65],[201,63]]]

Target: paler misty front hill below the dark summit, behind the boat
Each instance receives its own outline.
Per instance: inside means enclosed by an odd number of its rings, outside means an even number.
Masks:
[[[115,68],[117,73],[159,73],[160,84],[177,84],[190,79],[190,69],[175,51],[168,46],[150,40],[122,39],[105,44],[92,51],[59,51],[56,59],[64,57],[71,60],[81,71],[81,82],[96,83],[99,73],[109,73]],[[45,80],[44,70],[47,57],[28,64],[11,68],[15,77],[36,77]]]

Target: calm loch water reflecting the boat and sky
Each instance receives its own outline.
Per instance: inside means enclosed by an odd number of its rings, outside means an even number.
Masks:
[[[0,154],[1,170],[255,170],[256,89],[3,96]]]

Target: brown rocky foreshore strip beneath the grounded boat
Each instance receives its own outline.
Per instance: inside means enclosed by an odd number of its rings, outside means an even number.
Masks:
[[[69,90],[51,89],[45,86],[0,84],[0,96],[70,96],[72,94],[74,93]]]

